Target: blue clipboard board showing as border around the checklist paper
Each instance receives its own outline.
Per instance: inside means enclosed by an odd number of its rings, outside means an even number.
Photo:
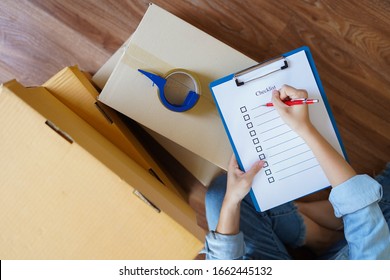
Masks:
[[[301,52],[301,51],[304,51],[305,54],[306,54],[306,57],[307,57],[308,62],[309,62],[309,64],[310,64],[310,68],[311,68],[311,71],[312,71],[313,76],[314,76],[314,78],[315,78],[317,87],[318,87],[318,89],[319,89],[319,91],[320,91],[320,94],[321,94],[322,100],[323,100],[323,102],[324,102],[325,108],[326,108],[326,110],[327,110],[327,113],[328,113],[328,115],[329,115],[329,118],[330,118],[330,121],[331,121],[331,123],[332,123],[333,129],[334,129],[334,131],[335,131],[335,134],[336,134],[336,136],[337,136],[338,142],[339,142],[339,144],[340,144],[342,153],[343,153],[343,155],[344,155],[344,158],[348,161],[348,159],[347,159],[347,154],[346,154],[346,152],[345,152],[345,148],[344,148],[344,145],[343,145],[343,143],[342,143],[340,133],[339,133],[339,131],[338,131],[338,129],[337,129],[337,126],[336,126],[336,121],[335,121],[334,116],[333,116],[333,114],[332,114],[332,112],[331,112],[331,108],[330,108],[328,99],[327,99],[327,97],[326,97],[324,88],[323,88],[323,86],[322,86],[322,82],[321,82],[321,80],[320,80],[320,77],[319,77],[317,68],[316,68],[316,66],[315,66],[315,64],[314,64],[314,60],[313,60],[312,54],[311,54],[311,52],[310,52],[310,49],[309,49],[307,46],[303,46],[303,47],[300,47],[300,48],[298,48],[298,49],[295,49],[295,50],[292,50],[292,51],[290,51],[290,52],[287,52],[287,53],[281,55],[280,57],[277,57],[277,58],[274,58],[274,59],[271,59],[271,60],[267,60],[267,61],[265,61],[265,62],[263,62],[263,63],[260,63],[260,64],[258,64],[258,65],[255,65],[255,66],[250,67],[250,68],[248,68],[248,69],[242,70],[242,71],[240,71],[240,72],[230,74],[230,75],[228,75],[228,76],[226,76],[226,77],[223,77],[223,78],[221,78],[221,79],[215,80],[215,81],[213,81],[213,82],[210,83],[210,85],[209,85],[210,91],[211,91],[211,93],[212,93],[214,102],[215,102],[215,104],[216,104],[216,106],[217,106],[219,115],[220,115],[220,117],[221,117],[222,123],[223,123],[224,128],[225,128],[225,131],[226,131],[226,133],[227,133],[227,136],[228,136],[228,138],[229,138],[229,141],[230,141],[230,144],[231,144],[231,146],[232,146],[233,152],[234,152],[234,154],[235,154],[235,156],[236,156],[237,162],[238,162],[238,164],[239,164],[241,170],[244,170],[242,161],[241,161],[240,156],[239,156],[239,154],[238,154],[238,152],[237,152],[237,149],[236,149],[235,143],[233,142],[232,136],[231,136],[231,134],[230,134],[230,132],[229,132],[228,126],[227,126],[226,121],[225,121],[225,117],[224,117],[224,115],[222,114],[221,108],[220,108],[220,106],[219,106],[219,104],[218,104],[218,102],[217,102],[217,98],[216,98],[216,96],[215,96],[215,93],[214,93],[214,91],[213,91],[213,88],[216,87],[216,86],[219,86],[219,85],[221,85],[221,84],[224,84],[224,83],[226,83],[226,82],[228,82],[228,81],[230,82],[232,79],[235,79],[235,82],[236,82],[236,84],[237,84],[237,87],[243,85],[244,83],[251,82],[252,80],[245,81],[245,82],[240,81],[240,80],[239,80],[240,75],[241,75],[242,73],[248,73],[248,72],[250,72],[250,71],[259,69],[259,68],[263,67],[264,65],[267,65],[267,64],[269,64],[269,63],[271,63],[271,62],[278,61],[278,60],[281,61],[281,62],[280,62],[280,67],[277,68],[277,69],[273,69],[273,70],[271,71],[271,73],[266,73],[266,74],[264,74],[264,76],[266,76],[266,75],[272,75],[272,73],[273,73],[273,72],[276,72],[276,71],[283,71],[284,69],[288,68],[287,63],[285,63],[285,62],[283,61],[283,59],[284,59],[284,58],[287,58],[287,57],[289,57],[289,56],[291,56],[291,55],[293,55],[293,54],[295,54],[295,53]],[[262,77],[255,77],[254,79],[258,79],[258,78],[262,78]],[[253,80],[254,80],[254,79],[253,79]],[[325,188],[326,188],[326,187],[329,187],[329,186],[325,186]],[[254,202],[254,205],[255,205],[256,210],[259,211],[259,212],[262,211],[262,210],[260,209],[260,206],[259,206],[258,202],[257,202],[257,199],[255,198],[255,195],[254,195],[254,193],[253,193],[253,190],[250,191],[250,195],[251,195],[252,201]]]

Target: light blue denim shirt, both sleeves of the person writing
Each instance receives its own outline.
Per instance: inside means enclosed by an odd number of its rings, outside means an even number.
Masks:
[[[390,259],[389,226],[378,205],[381,185],[368,175],[356,175],[333,188],[329,201],[344,221],[348,245],[332,259]],[[208,259],[240,259],[245,254],[244,235],[209,232],[204,252]]]

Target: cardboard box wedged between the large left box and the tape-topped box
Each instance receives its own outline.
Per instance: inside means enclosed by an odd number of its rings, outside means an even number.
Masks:
[[[160,168],[117,112],[97,101],[98,91],[77,66],[64,68],[43,86],[151,175],[182,196],[177,183]]]

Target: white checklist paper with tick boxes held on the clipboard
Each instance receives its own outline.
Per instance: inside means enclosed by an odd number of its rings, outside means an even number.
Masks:
[[[237,86],[233,75],[210,86],[240,166],[249,170],[258,160],[265,163],[256,175],[251,190],[259,211],[330,185],[303,139],[284,123],[275,107],[261,106],[271,102],[274,89],[288,84],[306,89],[309,98],[319,99],[319,103],[309,106],[310,119],[343,155],[326,97],[324,93],[321,94],[305,50],[287,56],[286,61],[287,69],[242,86]]]

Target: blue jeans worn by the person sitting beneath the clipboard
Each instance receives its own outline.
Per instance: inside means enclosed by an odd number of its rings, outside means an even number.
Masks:
[[[390,163],[375,178],[383,187],[383,197],[379,206],[390,224]],[[222,201],[226,192],[226,175],[216,178],[206,194],[206,218],[209,230],[215,230]],[[241,203],[240,230],[244,233],[246,254],[244,259],[291,259],[287,247],[303,245],[306,228],[303,218],[292,202],[265,212],[257,212],[247,195]],[[321,259],[331,258],[347,245],[345,239],[332,246]]]

